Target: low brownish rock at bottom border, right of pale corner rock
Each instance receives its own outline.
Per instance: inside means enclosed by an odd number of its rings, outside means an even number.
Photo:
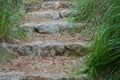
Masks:
[[[87,80],[86,74],[81,74],[79,76],[70,77],[68,74],[63,73],[38,73],[38,74],[29,74],[24,80]]]

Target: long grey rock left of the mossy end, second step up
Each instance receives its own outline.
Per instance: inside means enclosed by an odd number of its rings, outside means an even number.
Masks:
[[[17,52],[22,55],[32,56],[55,56],[57,53],[62,53],[64,46],[61,43],[54,42],[33,42],[21,45],[17,48]]]

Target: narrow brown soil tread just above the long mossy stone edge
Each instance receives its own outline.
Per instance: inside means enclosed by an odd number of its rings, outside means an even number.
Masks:
[[[63,34],[39,34],[33,33],[30,35],[31,39],[29,42],[32,41],[57,41],[62,43],[68,42],[87,42],[89,41],[89,36],[82,35],[79,33],[63,33]]]

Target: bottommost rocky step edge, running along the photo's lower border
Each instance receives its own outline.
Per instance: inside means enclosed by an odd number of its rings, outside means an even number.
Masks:
[[[87,75],[83,74],[77,76],[79,80],[86,80]],[[59,73],[37,73],[25,74],[20,71],[0,72],[0,80],[69,80],[71,79],[68,74]],[[73,79],[73,78],[72,78]]]

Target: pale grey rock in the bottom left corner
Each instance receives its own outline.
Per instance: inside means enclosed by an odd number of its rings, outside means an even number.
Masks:
[[[22,80],[24,78],[24,72],[0,72],[0,80]]]

